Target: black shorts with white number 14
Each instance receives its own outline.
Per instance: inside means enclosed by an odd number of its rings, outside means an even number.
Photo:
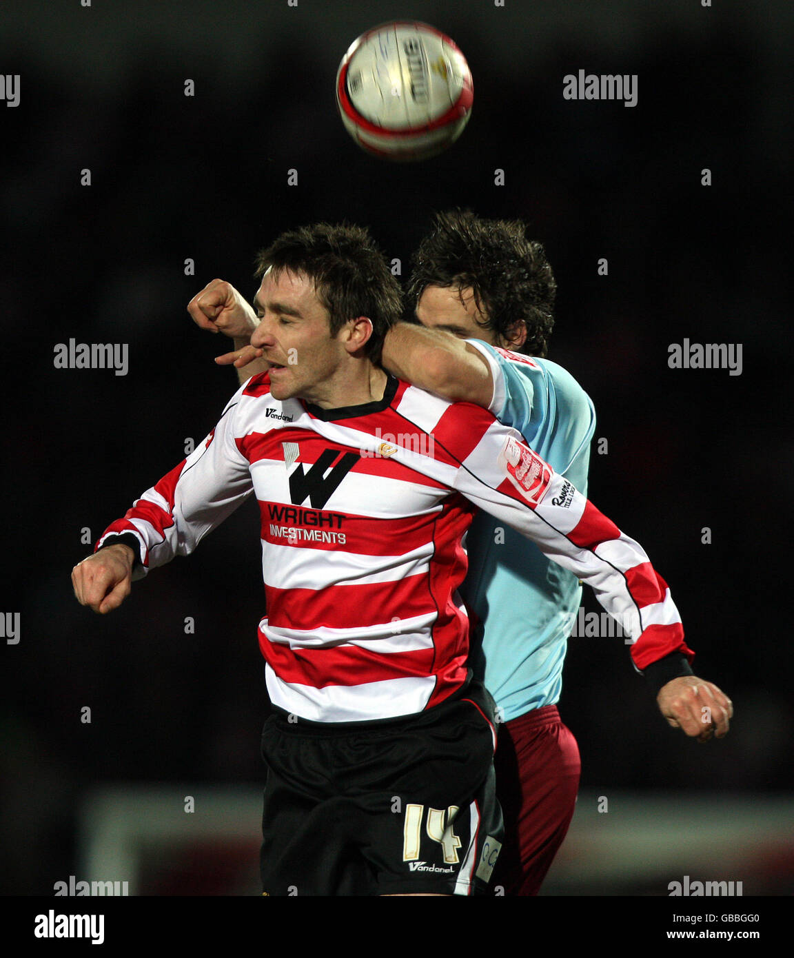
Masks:
[[[291,718],[262,731],[265,895],[487,892],[502,812],[479,682],[408,718]]]

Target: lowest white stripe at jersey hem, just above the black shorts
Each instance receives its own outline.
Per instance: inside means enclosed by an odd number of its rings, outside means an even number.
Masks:
[[[315,689],[283,682],[269,665],[265,665],[265,682],[275,706],[309,721],[365,721],[415,715],[424,709],[436,687],[431,675]]]

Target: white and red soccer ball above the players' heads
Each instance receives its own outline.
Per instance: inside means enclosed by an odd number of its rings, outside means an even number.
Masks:
[[[463,132],[471,71],[450,38],[426,23],[384,23],[355,40],[336,74],[336,105],[362,149],[423,160]]]

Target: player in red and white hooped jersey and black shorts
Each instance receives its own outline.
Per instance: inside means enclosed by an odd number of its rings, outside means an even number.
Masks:
[[[323,255],[340,259],[344,244],[325,226],[298,247],[318,233]],[[110,611],[133,574],[192,552],[253,492],[273,706],[262,735],[265,893],[482,892],[501,839],[492,702],[467,672],[468,621],[454,598],[476,509],[627,616],[635,660],[692,653],[642,548],[517,433],[374,365],[367,342],[394,316],[353,314],[331,332],[323,299],[341,302],[350,284],[360,303],[372,284],[356,275],[369,243],[356,243],[360,257],[332,281],[314,257],[294,270],[294,259],[266,257],[251,343],[269,372],[108,527],[73,582],[80,603]],[[388,288],[385,261],[379,272]]]

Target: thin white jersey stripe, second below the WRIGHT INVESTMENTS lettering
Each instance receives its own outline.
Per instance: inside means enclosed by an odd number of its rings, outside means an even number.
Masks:
[[[432,649],[433,636],[430,627],[438,618],[436,612],[417,615],[412,619],[400,619],[399,622],[385,622],[377,626],[353,628],[329,628],[320,626],[311,629],[282,628],[271,626],[262,619],[260,628],[271,641],[289,646],[290,649],[322,649],[333,646],[352,645],[361,649],[384,650],[381,643],[399,643],[399,648],[389,651],[416,651]]]

